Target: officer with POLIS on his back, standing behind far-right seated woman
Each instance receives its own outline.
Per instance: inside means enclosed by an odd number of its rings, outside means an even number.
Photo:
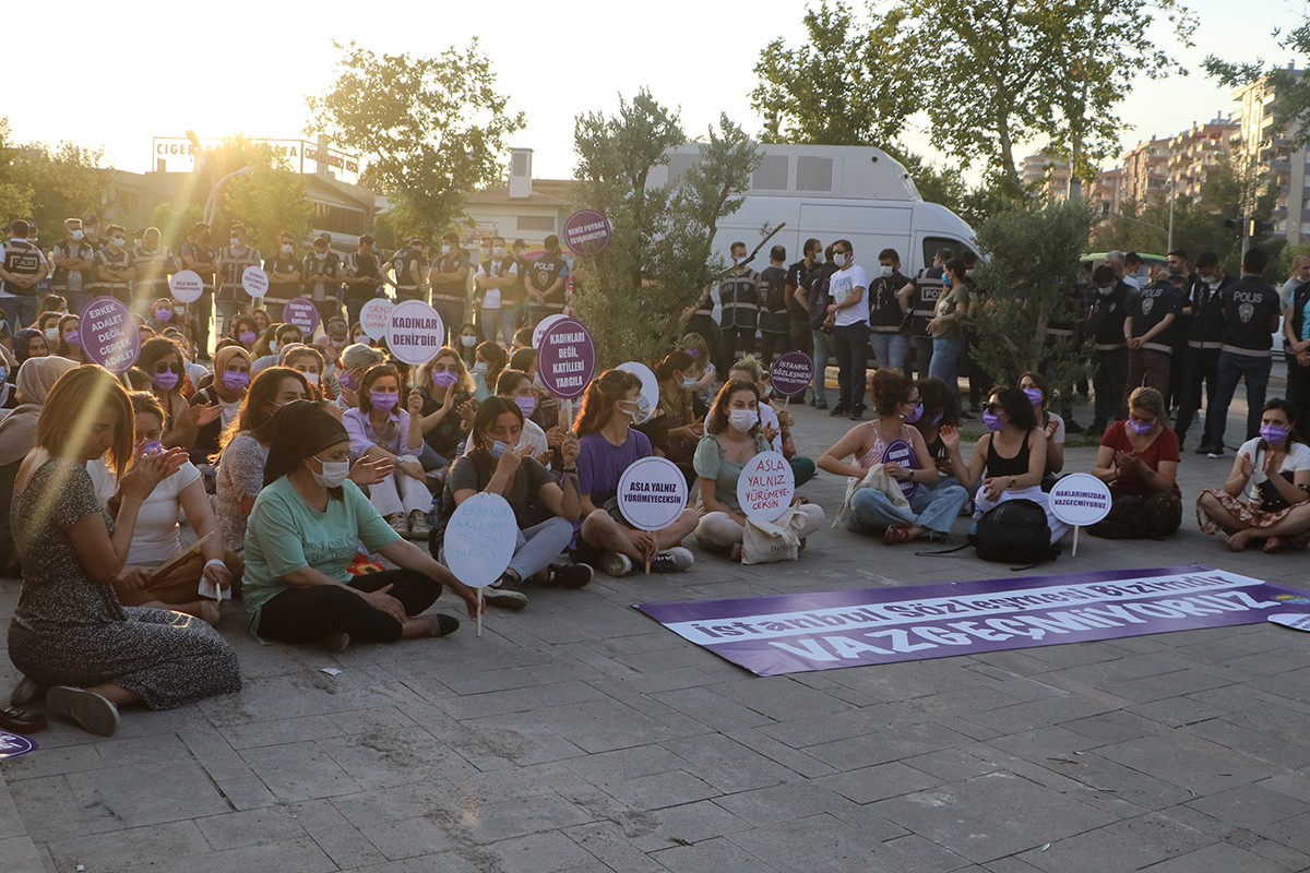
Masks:
[[[1273,364],[1272,334],[1279,329],[1282,301],[1277,289],[1264,281],[1268,255],[1251,249],[1242,258],[1242,277],[1220,292],[1224,310],[1224,338],[1220,347],[1218,385],[1214,403],[1205,410],[1205,442],[1209,457],[1224,457],[1224,431],[1227,407],[1239,381],[1246,383],[1246,437],[1260,436],[1264,393],[1269,387]]]

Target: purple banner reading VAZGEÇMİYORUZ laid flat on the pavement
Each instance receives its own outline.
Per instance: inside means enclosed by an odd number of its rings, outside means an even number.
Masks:
[[[1193,564],[634,609],[756,675],[783,675],[1258,624],[1306,603]]]

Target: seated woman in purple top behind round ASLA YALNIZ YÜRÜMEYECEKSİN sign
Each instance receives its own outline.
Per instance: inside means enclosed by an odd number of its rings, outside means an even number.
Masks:
[[[605,370],[587,386],[582,412],[574,423],[578,433],[578,490],[582,492],[582,529],[575,560],[599,567],[610,576],[626,576],[635,564],[650,561],[654,572],[689,569],[692,552],[683,538],[698,521],[685,509],[664,530],[631,527],[618,509],[616,495],[624,470],[651,454],[650,440],[633,429],[643,416],[642,382],[624,370]],[[566,469],[565,472],[569,472]]]

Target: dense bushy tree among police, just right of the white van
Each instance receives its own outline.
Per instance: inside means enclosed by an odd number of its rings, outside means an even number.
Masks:
[[[1070,397],[1089,374],[1091,353],[1069,338],[1047,338],[1047,326],[1070,318],[1078,259],[1094,216],[1085,202],[998,212],[977,228],[984,260],[977,284],[985,302],[972,315],[973,359],[998,383],[1028,370],[1047,373]]]

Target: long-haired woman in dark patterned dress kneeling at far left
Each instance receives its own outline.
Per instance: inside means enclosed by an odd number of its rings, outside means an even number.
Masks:
[[[111,373],[100,366],[66,373],[42,408],[37,448],[14,493],[24,579],[9,658],[29,688],[54,686],[46,712],[101,736],[118,730],[119,705],[140,700],[172,709],[241,687],[236,654],[208,624],[118,599],[117,590],[149,582],[127,563],[138,516],[156,486],[186,462],[178,449],[134,458],[132,420],[127,391]],[[114,518],[85,469],[106,452],[119,479]],[[33,694],[20,688],[14,696]]]

